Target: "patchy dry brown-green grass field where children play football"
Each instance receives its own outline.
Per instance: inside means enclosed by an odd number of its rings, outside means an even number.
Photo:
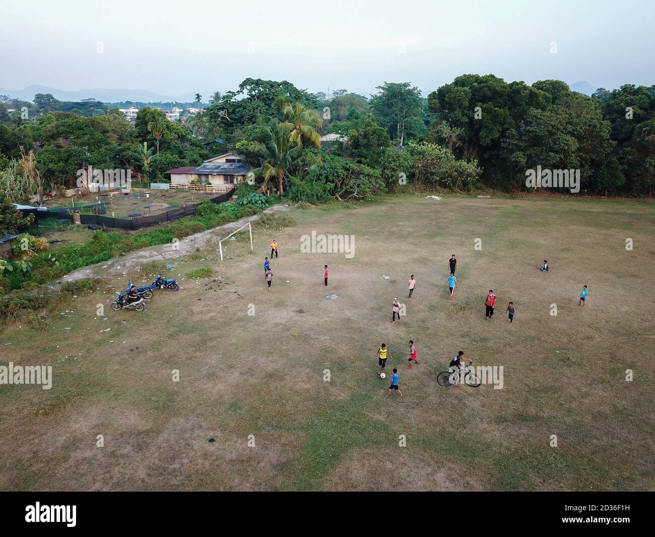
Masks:
[[[181,290],[158,291],[143,313],[112,311],[100,291],[44,332],[0,332],[2,365],[54,372],[50,390],[0,386],[0,488],[655,487],[652,203],[408,196],[288,214],[295,224],[257,233],[254,254],[227,245],[220,283],[185,277],[219,274],[215,245],[180,258],[168,277]],[[312,231],[354,235],[354,257],[301,253]],[[269,294],[262,263],[273,238]],[[453,253],[458,288],[447,300]],[[121,269],[106,278],[117,289],[136,280]],[[490,288],[498,302],[488,322]],[[394,296],[407,315],[392,324]],[[387,397],[388,378],[377,376],[383,342],[402,398]],[[503,366],[504,387],[441,388],[436,373],[460,349],[476,365]]]

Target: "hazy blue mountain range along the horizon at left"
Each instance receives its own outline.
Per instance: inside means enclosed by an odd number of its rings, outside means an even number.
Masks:
[[[29,101],[34,98],[37,93],[50,93],[54,98],[60,101],[73,101],[79,102],[83,99],[96,99],[102,102],[193,102],[195,100],[195,92],[187,93],[184,95],[160,95],[158,93],[141,90],[141,89],[83,89],[77,91],[65,91],[56,88],[49,88],[33,84],[22,90],[10,90],[0,88],[0,95],[9,95],[11,98]],[[206,102],[212,92],[200,92],[202,100]]]

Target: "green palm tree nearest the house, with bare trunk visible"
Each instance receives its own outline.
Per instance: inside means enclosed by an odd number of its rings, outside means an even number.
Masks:
[[[284,192],[284,174],[291,168],[293,162],[299,157],[299,146],[289,140],[289,129],[284,123],[272,120],[267,125],[266,142],[253,142],[250,151],[259,157],[261,165],[253,170],[255,175],[261,176],[264,183],[259,192],[269,191],[269,181],[277,178],[280,195]]]

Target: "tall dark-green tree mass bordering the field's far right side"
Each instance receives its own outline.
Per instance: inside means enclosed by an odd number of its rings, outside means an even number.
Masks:
[[[586,193],[655,193],[655,87],[590,98],[557,80],[528,86],[462,75],[428,96],[428,136],[476,158],[485,184],[525,188],[525,171],[579,169]]]

